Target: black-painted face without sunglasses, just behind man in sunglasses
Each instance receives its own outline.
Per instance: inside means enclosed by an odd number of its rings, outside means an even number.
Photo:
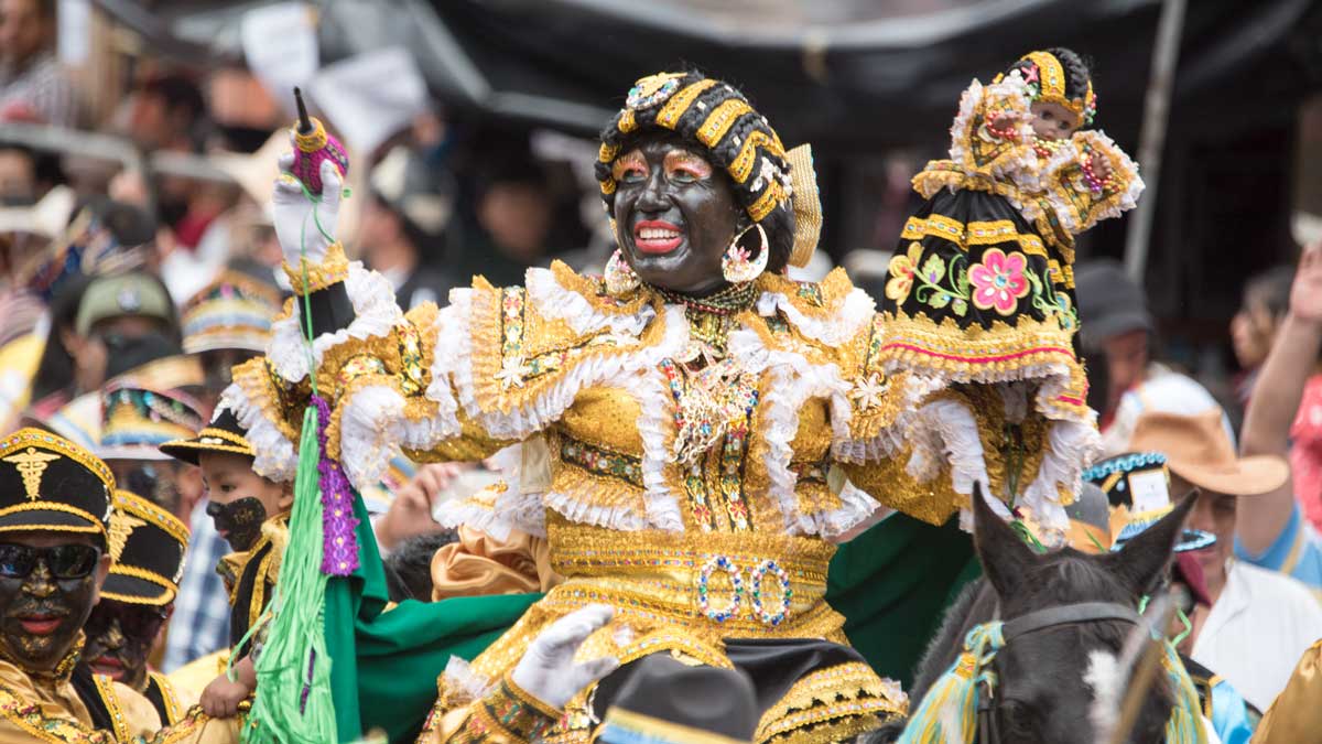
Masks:
[[[168,614],[165,608],[102,600],[83,626],[83,662],[95,674],[144,690],[147,655]]]

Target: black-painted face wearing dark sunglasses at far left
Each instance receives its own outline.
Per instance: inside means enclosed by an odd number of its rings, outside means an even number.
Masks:
[[[26,576],[0,576],[4,654],[26,671],[56,671],[87,621],[95,594],[95,571],[57,579],[44,555]]]

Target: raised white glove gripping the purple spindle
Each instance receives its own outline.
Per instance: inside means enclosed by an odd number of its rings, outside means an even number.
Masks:
[[[334,226],[340,214],[340,193],[342,191],[340,169],[333,162],[323,160],[321,199],[309,200],[303,193],[299,180],[290,173],[290,168],[293,167],[293,152],[282,155],[279,164],[280,176],[275,179],[271,213],[284,261],[290,266],[297,267],[299,259],[305,257],[309,266],[316,266],[321,263],[327,249],[334,242]]]

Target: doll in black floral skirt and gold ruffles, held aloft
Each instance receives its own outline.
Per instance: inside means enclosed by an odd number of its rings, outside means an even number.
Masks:
[[[993,485],[1001,471],[1014,478],[1013,462],[1055,471],[1095,454],[1073,344],[1073,240],[1134,207],[1144,188],[1134,163],[1087,128],[1096,111],[1088,68],[1068,49],[1031,52],[992,85],[973,81],[951,127],[951,158],[914,177],[927,203],[904,224],[891,258],[882,347],[912,372],[948,383],[1011,383],[961,388],[984,404],[970,408],[978,438],[964,412],[944,421],[962,437],[954,457],[981,451]],[[1022,425],[998,434],[992,409]],[[1047,421],[1056,424],[1043,433]],[[1036,446],[1043,436],[1050,447]],[[1019,479],[998,492],[1060,528],[1069,500],[1060,483]]]

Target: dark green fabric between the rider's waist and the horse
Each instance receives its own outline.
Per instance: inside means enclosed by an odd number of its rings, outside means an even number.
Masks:
[[[839,547],[826,601],[867,663],[907,690],[945,609],[981,573],[957,519],[933,527],[894,514]]]

